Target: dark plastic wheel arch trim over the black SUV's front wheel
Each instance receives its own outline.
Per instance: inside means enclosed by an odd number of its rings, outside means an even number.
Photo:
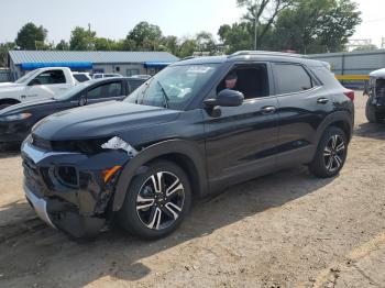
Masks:
[[[190,180],[193,195],[201,197],[208,191],[204,152],[198,145],[185,140],[167,140],[151,145],[130,159],[121,171],[113,198],[112,210],[119,211],[132,179],[141,168],[156,159],[167,159],[180,166]]]

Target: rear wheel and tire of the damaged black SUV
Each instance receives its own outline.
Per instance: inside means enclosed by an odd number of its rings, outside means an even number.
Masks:
[[[342,169],[348,154],[348,141],[345,133],[336,126],[328,128],[312,162],[309,165],[310,171],[320,178],[337,176]]]

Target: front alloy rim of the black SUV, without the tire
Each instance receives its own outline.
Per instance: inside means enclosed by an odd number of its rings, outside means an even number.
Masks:
[[[136,197],[136,213],[148,229],[163,230],[179,218],[184,202],[180,179],[169,171],[157,171],[142,185]]]

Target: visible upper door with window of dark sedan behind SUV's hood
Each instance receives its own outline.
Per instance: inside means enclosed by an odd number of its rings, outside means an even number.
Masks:
[[[125,89],[122,80],[114,80],[92,87],[87,92],[87,103],[98,103],[110,100],[120,100],[125,97]]]

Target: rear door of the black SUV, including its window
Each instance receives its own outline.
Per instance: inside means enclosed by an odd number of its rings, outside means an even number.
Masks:
[[[318,126],[332,111],[332,99],[306,66],[275,63],[278,100],[278,165],[309,163],[317,144]]]

